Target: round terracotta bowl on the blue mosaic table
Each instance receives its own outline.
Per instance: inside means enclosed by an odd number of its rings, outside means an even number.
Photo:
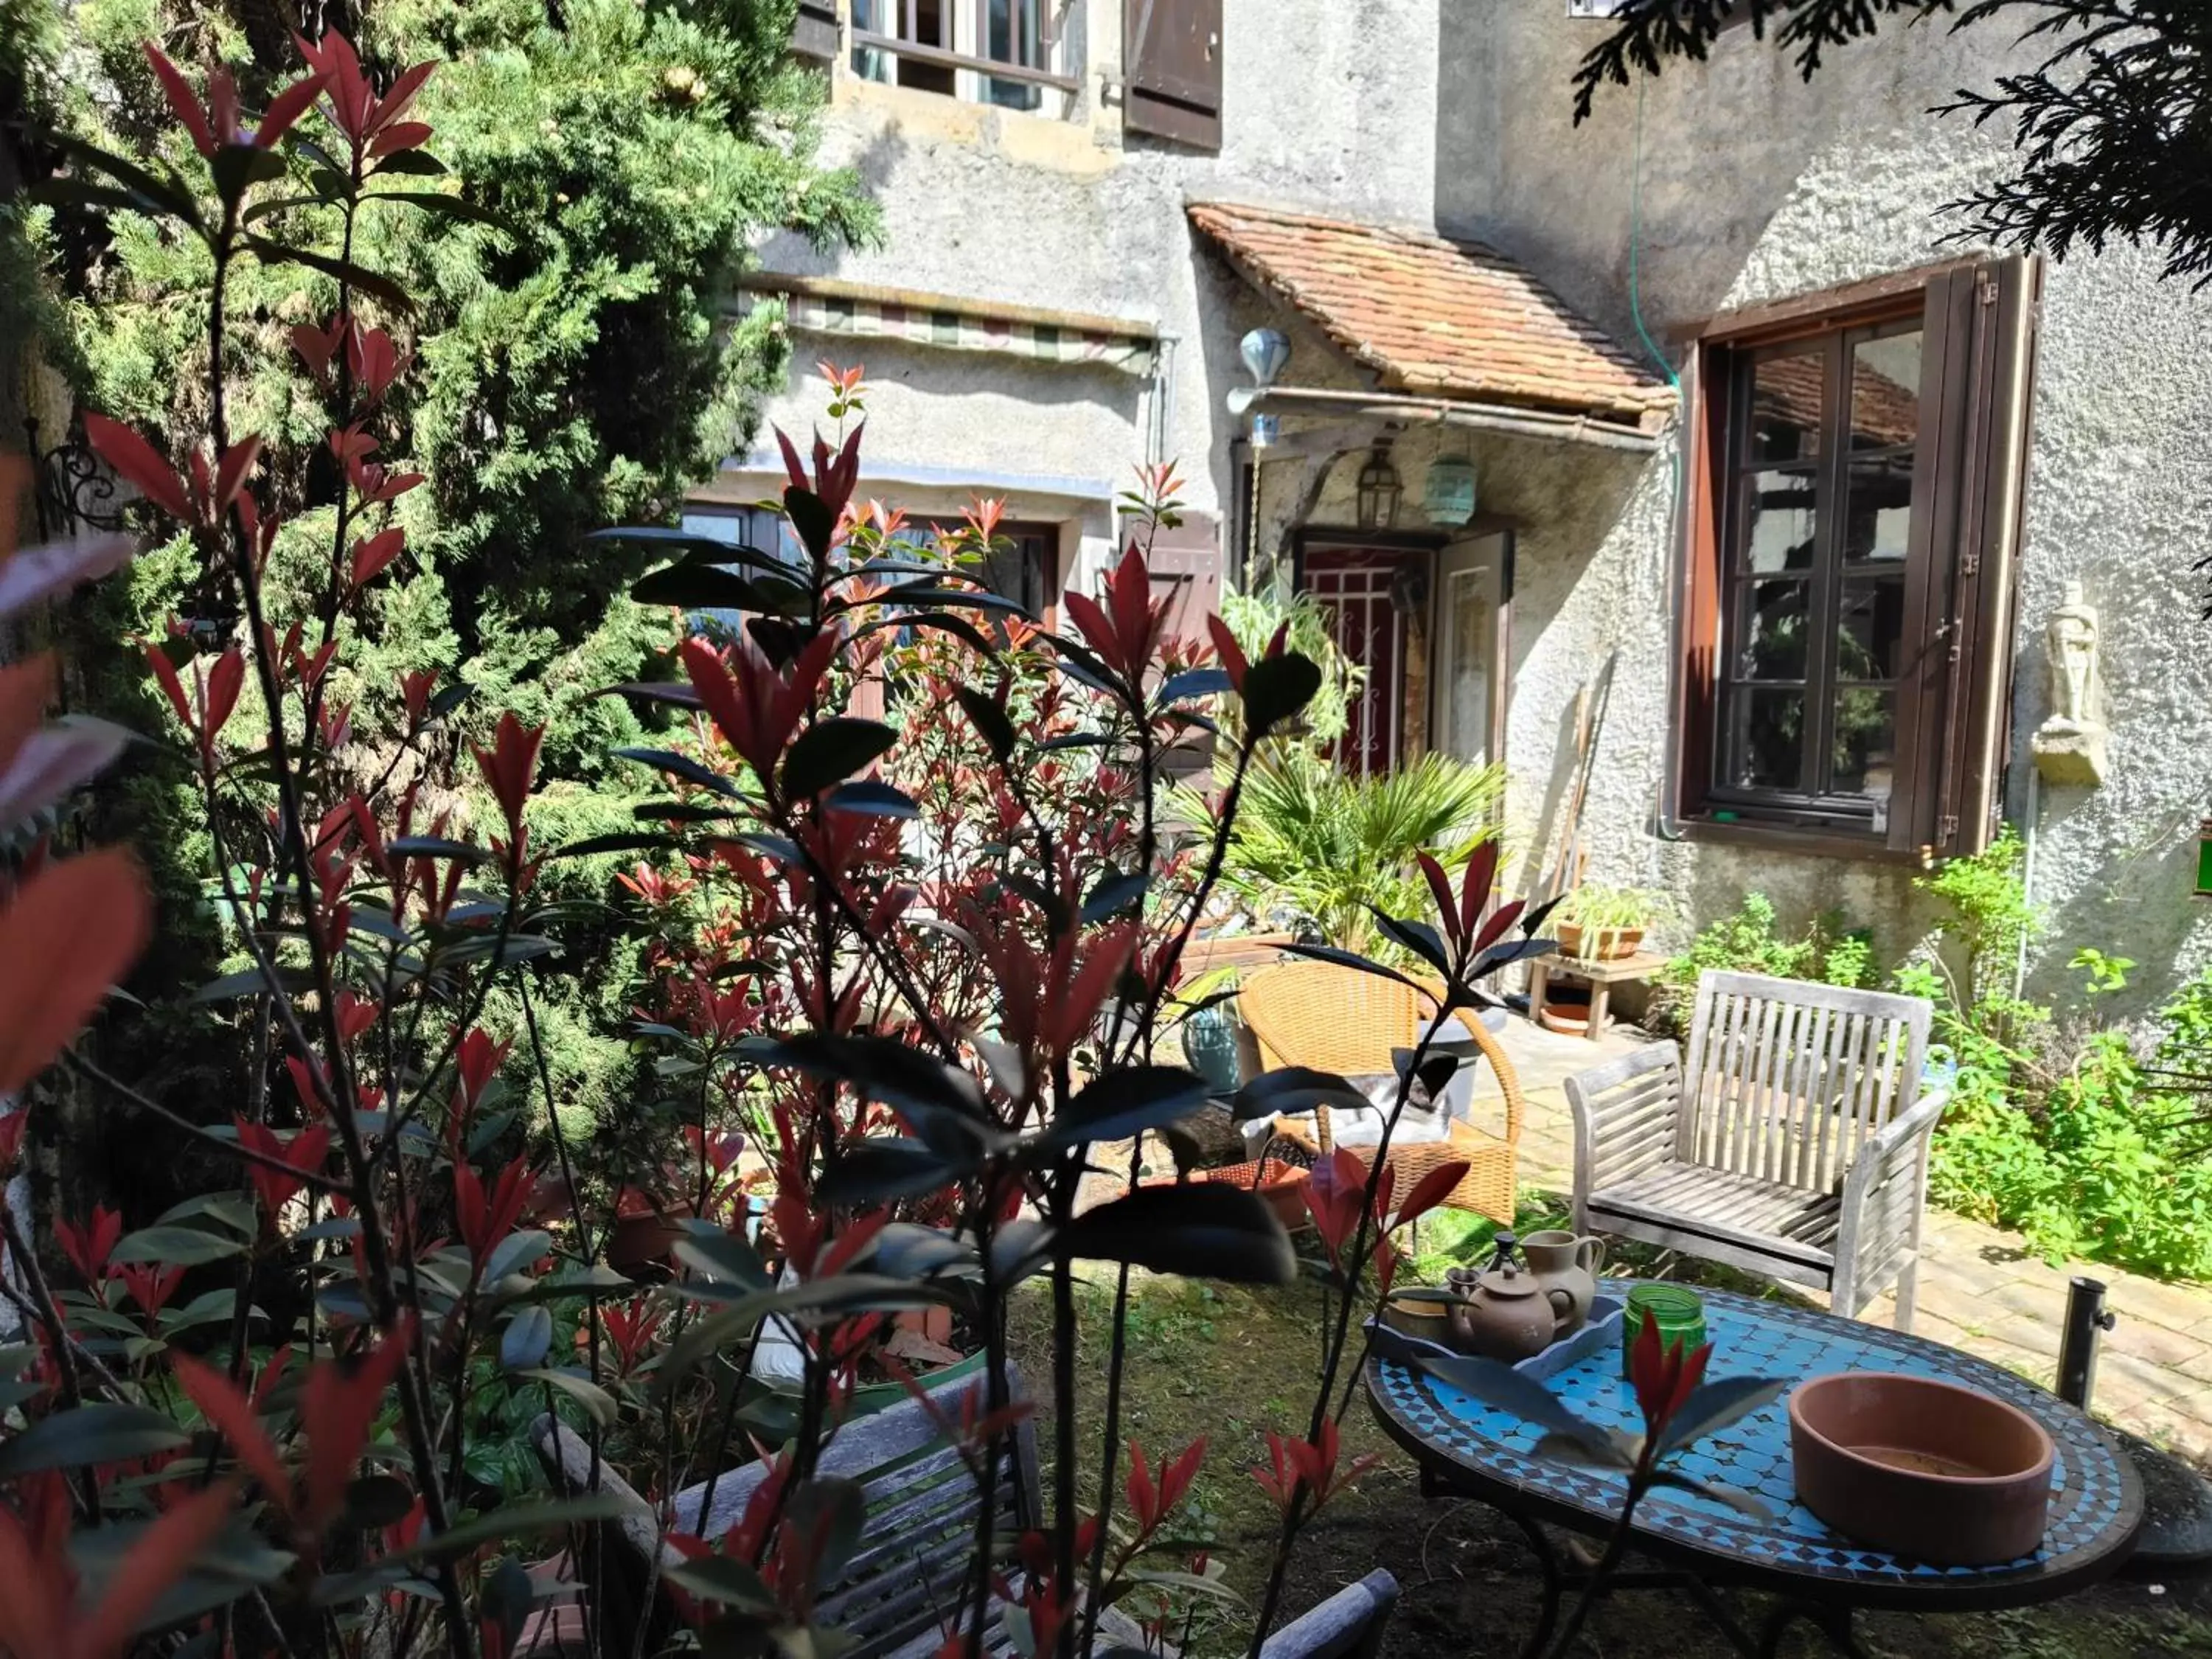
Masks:
[[[2026,1411],[1955,1383],[1816,1376],[1790,1396],[1798,1500],[1845,1537],[1936,1566],[2033,1555],[2053,1444]]]

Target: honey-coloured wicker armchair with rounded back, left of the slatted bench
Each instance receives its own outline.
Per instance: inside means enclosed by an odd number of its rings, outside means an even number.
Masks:
[[[1411,1048],[1422,1020],[1429,1018],[1429,1002],[1411,987],[1334,962],[1281,962],[1261,969],[1245,978],[1237,1009],[1245,1029],[1259,1040],[1261,1060],[1270,1071],[1314,1066],[1340,1077],[1394,1073],[1391,1051]],[[1462,1024],[1498,1073],[1498,1086],[1506,1097],[1504,1137],[1453,1117],[1440,1141],[1394,1141],[1391,1164],[1398,1166],[1398,1188],[1405,1190],[1440,1164],[1467,1159],[1467,1175],[1444,1203],[1513,1225],[1522,1130],[1520,1075],[1498,1037],[1484,1031],[1473,1013]],[[1274,1133],[1310,1152],[1327,1155],[1336,1146],[1327,1110],[1314,1113],[1312,1119],[1279,1117]],[[1347,1150],[1360,1161],[1374,1157],[1374,1148]]]

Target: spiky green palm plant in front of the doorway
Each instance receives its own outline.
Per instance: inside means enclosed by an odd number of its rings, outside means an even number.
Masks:
[[[1402,916],[1427,891],[1416,854],[1462,869],[1498,836],[1504,783],[1449,754],[1352,776],[1285,743],[1245,781],[1223,885],[1256,916],[1376,951],[1374,909]]]

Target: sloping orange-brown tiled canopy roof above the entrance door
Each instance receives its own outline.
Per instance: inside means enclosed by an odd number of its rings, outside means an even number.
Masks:
[[[1504,254],[1473,241],[1223,201],[1190,221],[1389,392],[1655,425],[1674,392]]]

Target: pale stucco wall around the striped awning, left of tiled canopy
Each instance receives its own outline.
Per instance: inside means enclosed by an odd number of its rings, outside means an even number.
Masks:
[[[1221,398],[1243,380],[1228,307],[1243,285],[1197,252],[1183,204],[1243,199],[1427,228],[1436,80],[1405,46],[1433,38],[1438,0],[1228,0],[1221,155],[1124,137],[1119,104],[1102,97],[1102,77],[1121,71],[1121,4],[1079,0],[1079,13],[1084,93],[1066,119],[841,66],[825,159],[863,170],[885,246],[823,257],[776,239],[763,263],[1155,323],[1177,336],[1166,453],[1183,462],[1188,504],[1221,511],[1232,489]],[[938,467],[1119,489],[1146,458],[1148,409],[1128,376],[878,341],[796,345],[801,363],[858,358],[885,383],[869,405],[872,476]],[[803,429],[821,403],[818,378],[796,376],[770,420]],[[1018,493],[1015,509],[1029,507]],[[1102,555],[1086,529],[1086,557]]]

